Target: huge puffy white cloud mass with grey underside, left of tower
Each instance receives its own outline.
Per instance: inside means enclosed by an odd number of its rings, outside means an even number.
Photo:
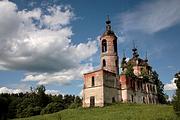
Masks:
[[[89,69],[83,61],[97,51],[97,41],[73,44],[70,6],[18,10],[0,1],[0,68],[27,71],[23,81],[67,84]],[[84,66],[84,67],[82,67]],[[90,66],[92,68],[92,66]]]

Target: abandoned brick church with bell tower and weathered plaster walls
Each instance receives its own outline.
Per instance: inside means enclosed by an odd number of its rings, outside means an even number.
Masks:
[[[132,49],[132,58],[119,57],[117,37],[107,18],[106,30],[100,38],[101,68],[84,74],[83,107],[99,106],[113,102],[157,104],[157,90],[152,79],[152,67],[147,57],[141,59],[137,48]]]

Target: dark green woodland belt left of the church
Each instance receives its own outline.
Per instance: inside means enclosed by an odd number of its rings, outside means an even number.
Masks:
[[[81,98],[74,95],[47,95],[43,85],[30,93],[0,94],[0,120],[29,117],[57,112],[71,104],[81,105]]]

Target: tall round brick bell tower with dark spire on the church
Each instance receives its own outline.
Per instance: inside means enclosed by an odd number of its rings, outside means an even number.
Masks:
[[[106,20],[106,31],[100,38],[101,68],[119,75],[117,37],[111,30],[109,16]]]

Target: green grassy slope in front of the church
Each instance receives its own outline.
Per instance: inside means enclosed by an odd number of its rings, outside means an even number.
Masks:
[[[57,113],[16,120],[180,120],[172,106],[115,104],[103,108],[66,109]]]

